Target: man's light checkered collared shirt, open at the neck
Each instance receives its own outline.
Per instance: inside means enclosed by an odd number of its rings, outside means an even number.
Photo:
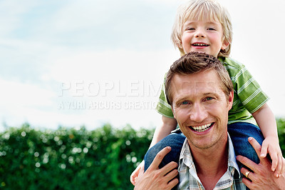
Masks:
[[[226,173],[217,182],[214,189],[246,189],[246,186],[242,183],[241,175],[239,174],[239,166],[234,154],[234,146],[232,140],[229,137],[229,159],[228,168]],[[187,139],[182,146],[180,161],[178,167],[180,175],[180,184],[178,189],[204,189],[199,177],[197,176],[196,168],[192,159],[190,146],[187,143]]]

